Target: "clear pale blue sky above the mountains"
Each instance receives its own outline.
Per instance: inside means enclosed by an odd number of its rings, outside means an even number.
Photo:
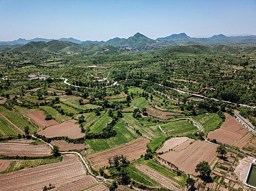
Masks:
[[[256,0],[0,0],[0,41],[256,34]]]

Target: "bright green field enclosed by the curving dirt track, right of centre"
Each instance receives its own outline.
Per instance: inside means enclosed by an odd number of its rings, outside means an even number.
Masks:
[[[161,127],[166,130],[170,136],[185,136],[197,132],[197,127],[193,126],[188,121],[174,121],[166,124],[161,124]]]

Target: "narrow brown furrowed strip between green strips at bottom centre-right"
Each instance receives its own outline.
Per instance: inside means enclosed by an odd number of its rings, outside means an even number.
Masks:
[[[144,172],[144,174],[150,176],[153,180],[160,182],[164,187],[167,187],[172,190],[181,190],[177,188],[180,186],[177,182],[170,180],[170,178],[163,176],[156,170],[151,169],[149,166],[140,164],[140,165],[135,165],[135,168],[140,170],[141,172]]]

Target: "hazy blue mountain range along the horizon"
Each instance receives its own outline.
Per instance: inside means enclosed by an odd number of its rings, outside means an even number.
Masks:
[[[24,45],[30,43],[31,41],[44,41],[49,42],[55,39],[45,39],[45,38],[34,38],[30,40],[19,38],[14,41],[0,41],[0,45]],[[223,34],[213,35],[210,38],[192,38],[185,33],[172,34],[168,37],[161,37],[157,39],[150,39],[143,34],[136,33],[132,37],[125,38],[113,38],[107,41],[81,41],[74,38],[60,38],[59,41],[67,41],[71,43],[76,43],[79,45],[112,45],[112,46],[173,46],[173,45],[189,45],[189,44],[254,44],[256,43],[256,35],[246,35],[246,36],[233,36],[227,37]]]

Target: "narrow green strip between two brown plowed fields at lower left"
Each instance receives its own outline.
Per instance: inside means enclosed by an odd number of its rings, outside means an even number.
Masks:
[[[33,160],[14,160],[10,163],[9,167],[0,172],[0,174],[5,174],[9,172],[18,171],[25,168],[33,168],[39,165],[52,164],[61,162],[61,157],[58,158],[50,158],[50,159],[33,159]]]

